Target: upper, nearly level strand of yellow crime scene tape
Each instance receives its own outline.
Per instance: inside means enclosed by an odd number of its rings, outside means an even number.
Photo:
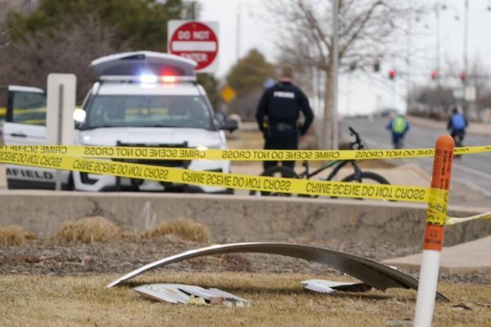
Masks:
[[[31,152],[36,154],[56,154],[73,157],[113,158],[113,159],[176,159],[176,160],[366,160],[409,157],[428,157],[435,154],[434,149],[400,150],[248,150],[248,149],[200,149],[198,148],[159,148],[159,147],[113,147],[113,146],[44,146],[21,145],[3,146],[3,149]],[[455,148],[454,154],[491,152],[489,146]]]

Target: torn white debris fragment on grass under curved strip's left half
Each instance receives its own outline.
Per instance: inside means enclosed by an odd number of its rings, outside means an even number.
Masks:
[[[157,301],[171,303],[217,304],[241,306],[251,301],[216,288],[203,288],[184,284],[147,284],[133,288],[141,295]]]

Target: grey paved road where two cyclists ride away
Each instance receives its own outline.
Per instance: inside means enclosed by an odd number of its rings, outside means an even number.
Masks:
[[[360,133],[370,149],[391,148],[390,132],[385,129],[388,119],[345,118],[342,129],[352,126]],[[406,138],[405,148],[433,148],[437,137],[445,131],[411,125]],[[344,137],[349,137],[348,132]],[[490,136],[466,135],[464,145],[491,145]],[[404,159],[417,163],[421,168],[431,171],[432,158]],[[452,180],[468,188],[491,197],[491,153],[467,154],[454,161]]]

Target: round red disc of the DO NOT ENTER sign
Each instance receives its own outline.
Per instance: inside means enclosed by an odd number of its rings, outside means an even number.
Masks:
[[[203,69],[216,59],[218,37],[202,22],[186,22],[172,33],[169,51],[171,54],[196,61],[196,70]]]

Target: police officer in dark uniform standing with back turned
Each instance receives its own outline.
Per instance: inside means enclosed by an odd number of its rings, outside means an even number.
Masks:
[[[264,134],[264,149],[297,150],[298,139],[304,135],[314,120],[308,99],[300,88],[292,84],[293,67],[284,65],[277,84],[267,88],[257,106],[256,120]],[[305,116],[298,127],[300,111]],[[276,166],[278,161],[264,161],[264,169]],[[295,161],[282,161],[293,169]]]

